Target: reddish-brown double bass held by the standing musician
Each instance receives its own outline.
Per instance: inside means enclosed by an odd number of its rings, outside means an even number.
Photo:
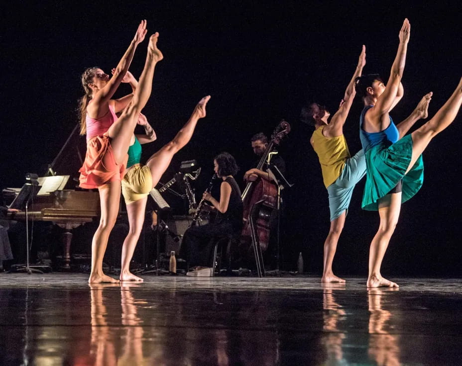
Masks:
[[[282,120],[273,131],[271,141],[269,141],[266,149],[261,156],[256,169],[262,170],[268,164],[269,154],[279,145],[283,139],[290,132],[290,124]],[[254,182],[247,183],[244,191],[242,192],[243,203],[243,220],[244,226],[242,228],[242,241],[249,242],[251,239],[251,228],[249,225],[249,215],[255,203],[261,202],[256,220],[256,231],[258,233],[258,242],[261,252],[266,251],[269,242],[269,219],[271,212],[277,205],[277,185],[274,182],[269,182],[265,179],[258,178]]]

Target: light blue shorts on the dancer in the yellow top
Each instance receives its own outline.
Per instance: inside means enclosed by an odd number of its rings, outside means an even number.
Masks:
[[[353,188],[365,174],[366,159],[364,151],[359,150],[356,155],[346,160],[342,174],[327,187],[331,221],[339,217],[345,210],[348,210]]]

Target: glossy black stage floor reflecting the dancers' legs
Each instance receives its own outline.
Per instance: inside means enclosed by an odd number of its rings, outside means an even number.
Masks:
[[[461,365],[462,279],[0,275],[0,365]]]

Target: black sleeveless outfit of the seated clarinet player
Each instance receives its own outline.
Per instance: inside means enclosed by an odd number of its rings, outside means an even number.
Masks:
[[[189,228],[183,236],[180,255],[186,257],[189,267],[212,267],[214,239],[242,231],[242,198],[239,186],[232,177],[224,182],[231,185],[230,203],[226,212],[219,212],[214,223]]]

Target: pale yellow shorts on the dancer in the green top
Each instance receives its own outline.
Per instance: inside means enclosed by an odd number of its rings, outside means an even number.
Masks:
[[[145,165],[133,165],[122,180],[122,194],[125,203],[132,203],[146,197],[151,189],[152,175]]]

